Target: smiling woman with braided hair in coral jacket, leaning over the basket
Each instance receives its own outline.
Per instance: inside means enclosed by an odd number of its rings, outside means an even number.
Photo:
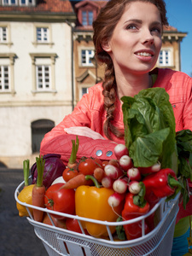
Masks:
[[[45,135],[41,154],[61,154],[67,163],[71,140],[79,135],[78,158],[113,159],[115,143],[124,143],[122,96],[135,96],[140,90],[163,87],[170,96],[176,131],[192,130],[192,81],[184,73],[154,69],[161,48],[163,26],[167,25],[163,0],[111,0],[93,23],[96,57],[106,64],[105,79],[90,88],[72,114]],[[187,213],[188,214],[188,213]],[[180,216],[186,217],[186,214]],[[182,227],[182,228],[181,228]],[[189,232],[189,217],[177,226],[179,254]],[[180,239],[180,240],[179,240]],[[182,240],[183,239],[183,240]]]

